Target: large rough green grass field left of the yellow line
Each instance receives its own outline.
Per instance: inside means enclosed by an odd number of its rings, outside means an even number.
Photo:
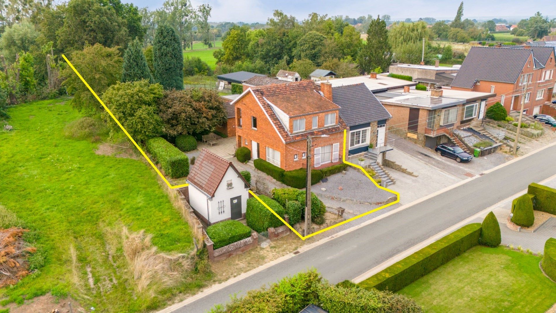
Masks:
[[[201,284],[192,275],[158,297],[135,292],[118,247],[123,225],[152,234],[162,251],[187,253],[193,245],[187,222],[152,168],[140,160],[96,155],[98,143],[64,137],[64,126],[81,117],[69,99],[25,103],[8,112],[13,131],[0,130],[0,204],[37,230],[36,245],[46,261],[17,285],[0,289],[0,309],[52,291],[69,293],[96,312],[145,311]]]

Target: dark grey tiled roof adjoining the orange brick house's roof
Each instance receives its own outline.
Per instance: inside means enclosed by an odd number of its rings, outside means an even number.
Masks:
[[[392,117],[364,83],[332,88],[332,100],[341,107],[340,116],[347,126]]]

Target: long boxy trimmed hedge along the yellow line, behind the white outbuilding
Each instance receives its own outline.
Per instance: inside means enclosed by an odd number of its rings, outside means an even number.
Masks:
[[[146,147],[166,175],[178,178],[189,174],[189,159],[170,142],[154,137],[147,140]]]

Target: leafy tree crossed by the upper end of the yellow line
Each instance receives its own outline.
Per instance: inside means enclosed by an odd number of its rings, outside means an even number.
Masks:
[[[98,96],[122,79],[123,59],[117,48],[107,48],[100,43],[95,46],[87,44],[82,51],[71,54],[71,62]],[[60,74],[65,79],[62,85],[73,95],[71,103],[77,110],[87,114],[101,111],[100,103],[69,66]]]

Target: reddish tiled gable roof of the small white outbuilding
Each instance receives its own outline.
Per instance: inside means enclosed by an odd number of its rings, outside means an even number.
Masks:
[[[214,197],[229,167],[232,167],[237,175],[241,177],[241,180],[249,186],[232,162],[206,149],[203,149],[195,160],[195,165],[191,168],[187,181],[207,195]]]

